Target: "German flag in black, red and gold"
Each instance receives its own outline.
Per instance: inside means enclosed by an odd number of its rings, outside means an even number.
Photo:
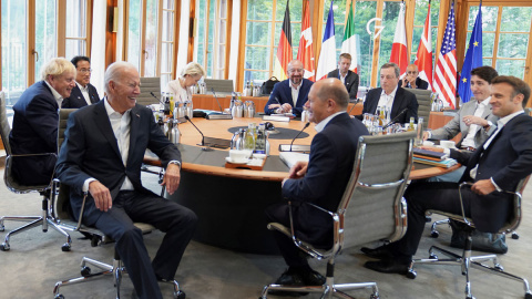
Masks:
[[[277,55],[274,62],[274,76],[280,81],[288,78],[288,63],[294,59],[291,54],[291,25],[288,3],[289,1],[286,1],[285,19],[283,20],[279,45],[277,47]]]

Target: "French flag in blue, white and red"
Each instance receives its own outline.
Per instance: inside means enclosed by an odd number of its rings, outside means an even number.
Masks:
[[[332,2],[334,1],[330,1],[327,24],[325,25],[324,41],[321,42],[321,51],[319,52],[318,70],[316,71],[316,80],[325,79],[330,71],[336,70],[335,16],[332,11]]]

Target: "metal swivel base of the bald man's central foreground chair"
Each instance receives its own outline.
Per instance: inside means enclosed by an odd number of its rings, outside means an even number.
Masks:
[[[270,290],[276,291],[291,291],[291,292],[300,292],[301,295],[306,295],[308,292],[317,292],[321,293],[321,298],[342,298],[342,299],[355,299],[344,291],[347,290],[356,290],[356,289],[372,289],[372,293],[369,297],[370,299],[379,299],[379,289],[377,288],[377,282],[359,282],[359,283],[342,283],[342,285],[335,285],[335,277],[334,277],[334,261],[329,260],[327,262],[327,277],[326,281],[323,286],[285,286],[285,285],[268,285],[265,286],[263,289],[263,293],[258,299],[267,299],[267,293]]]

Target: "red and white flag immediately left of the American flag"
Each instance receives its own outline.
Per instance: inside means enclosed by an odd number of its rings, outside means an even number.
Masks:
[[[418,65],[419,78],[429,82],[429,89],[432,90],[432,34],[430,34],[430,2],[427,19],[424,20],[423,34],[419,41],[418,54],[413,62]]]

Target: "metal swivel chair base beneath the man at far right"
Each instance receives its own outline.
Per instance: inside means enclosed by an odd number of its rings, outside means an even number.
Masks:
[[[460,266],[462,270],[462,275],[466,276],[466,299],[474,299],[471,295],[471,281],[469,279],[469,270],[470,268],[480,269],[487,272],[495,274],[498,276],[502,276],[505,278],[510,278],[516,281],[521,281],[524,287],[524,298],[532,299],[532,292],[530,290],[529,281],[525,278],[514,276],[512,274],[505,272],[503,267],[499,264],[497,255],[484,255],[484,256],[471,256],[471,246],[472,246],[472,238],[471,233],[466,240],[466,247],[463,249],[462,256],[451,252],[447,249],[440,248],[438,246],[431,246],[429,249],[429,258],[428,259],[416,259],[412,260],[410,267],[408,269],[407,277],[410,279],[415,279],[417,276],[416,270],[413,270],[415,264],[429,264],[429,265],[453,265]],[[449,257],[447,259],[440,259],[434,254],[438,251],[443,254],[444,256]],[[492,261],[493,267],[487,266],[482,262],[484,261]]]

